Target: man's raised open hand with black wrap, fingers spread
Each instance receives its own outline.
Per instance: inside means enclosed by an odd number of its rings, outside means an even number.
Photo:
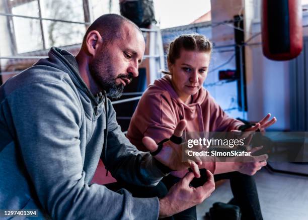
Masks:
[[[174,130],[174,136],[182,137],[183,131],[186,127],[186,120],[181,120]],[[158,148],[157,144],[150,137],[144,137],[142,139],[143,145],[150,151],[155,152]],[[167,141],[163,144],[162,150],[154,156],[164,165],[168,166],[172,170],[184,170],[191,168],[195,177],[200,177],[200,171],[198,165],[201,165],[201,159],[197,156],[193,158],[193,161],[182,162],[182,146]],[[198,161],[198,162],[194,162]]]

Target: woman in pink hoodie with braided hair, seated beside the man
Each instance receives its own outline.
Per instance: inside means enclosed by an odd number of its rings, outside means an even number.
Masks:
[[[208,73],[211,42],[199,34],[184,34],[171,42],[166,75],[156,80],[142,95],[131,119],[127,137],[139,150],[145,136],[157,143],[170,138],[180,120],[185,119],[185,132],[243,130],[243,123],[227,116],[202,86]],[[276,122],[270,114],[245,131],[264,130]],[[240,206],[242,219],[263,219],[254,175],[266,165],[257,162],[203,162],[200,168],[210,170],[219,179],[230,179],[233,202]],[[202,170],[202,169],[201,169]],[[172,172],[163,182],[170,188],[188,171]],[[202,177],[201,177],[202,178]],[[202,181],[202,179],[201,179]],[[194,187],[202,184],[192,183]],[[176,219],[196,218],[196,207],[174,216]]]

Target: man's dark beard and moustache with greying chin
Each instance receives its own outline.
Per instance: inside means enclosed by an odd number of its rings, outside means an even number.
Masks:
[[[114,77],[116,73],[111,62],[110,54],[106,50],[100,57],[89,64],[89,70],[93,79],[106,91],[107,96],[110,98],[119,98],[123,93],[124,85],[122,83],[117,84],[117,78],[127,78],[129,81],[132,79],[131,74],[120,74]]]

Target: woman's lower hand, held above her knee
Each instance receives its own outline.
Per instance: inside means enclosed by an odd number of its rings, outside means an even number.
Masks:
[[[254,153],[260,150],[261,147],[256,147],[250,150],[250,152]],[[239,171],[240,173],[247,175],[254,175],[258,170],[260,170],[263,166],[266,166],[266,160],[268,156],[266,154],[260,156],[251,156],[254,161],[252,162],[234,162],[234,170]]]

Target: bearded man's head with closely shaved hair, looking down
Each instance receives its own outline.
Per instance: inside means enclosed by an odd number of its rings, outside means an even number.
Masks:
[[[76,60],[94,94],[105,90],[117,98],[132,77],[138,76],[144,49],[142,32],[133,22],[106,14],[88,28]]]

